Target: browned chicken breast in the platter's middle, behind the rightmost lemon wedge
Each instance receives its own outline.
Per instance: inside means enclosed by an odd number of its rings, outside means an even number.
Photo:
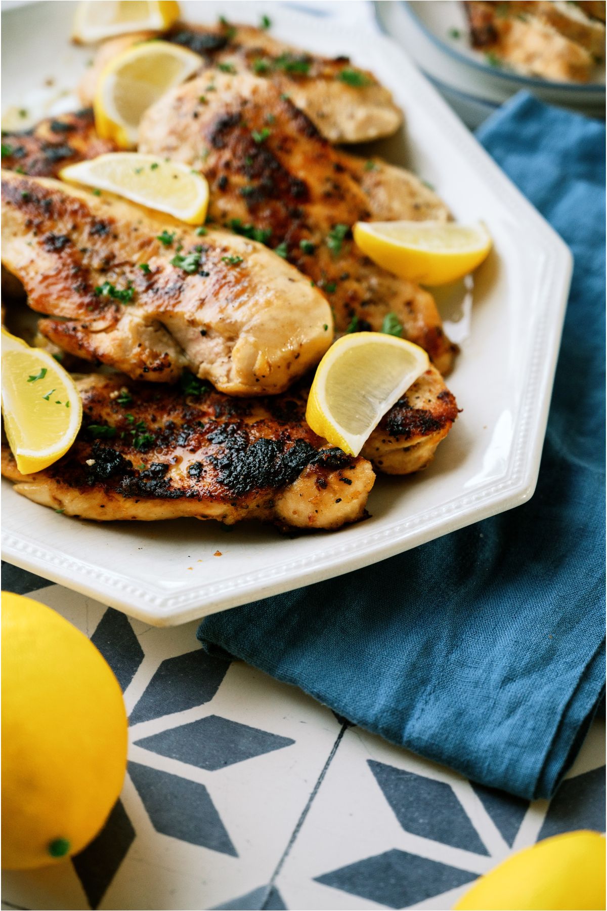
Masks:
[[[211,90],[212,89],[212,90]],[[445,374],[455,348],[431,294],[365,257],[351,241],[358,220],[447,218],[430,189],[397,169],[332,148],[288,97],[266,79],[208,71],[150,107],[139,150],[184,161],[211,188],[209,220],[258,237],[323,289],[339,332],[379,331],[389,313]]]

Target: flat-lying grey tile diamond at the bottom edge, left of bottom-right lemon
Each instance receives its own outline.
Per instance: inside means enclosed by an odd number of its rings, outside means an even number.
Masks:
[[[353,896],[404,908],[470,883],[477,875],[393,848],[315,878]]]

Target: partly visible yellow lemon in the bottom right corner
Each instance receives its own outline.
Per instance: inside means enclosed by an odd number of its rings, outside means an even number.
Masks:
[[[454,911],[601,911],[605,839],[597,832],[554,835],[481,876]]]

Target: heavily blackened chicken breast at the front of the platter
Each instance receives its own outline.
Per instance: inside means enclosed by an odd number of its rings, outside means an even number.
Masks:
[[[329,448],[288,396],[184,395],[99,374],[77,385],[83,425],[63,458],[21,475],[3,448],[3,475],[35,503],[97,521],[192,516],[338,528],[365,515],[369,462]]]

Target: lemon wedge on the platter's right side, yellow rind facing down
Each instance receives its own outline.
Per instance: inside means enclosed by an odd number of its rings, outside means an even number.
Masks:
[[[457,281],[485,259],[491,237],[481,222],[359,221],[354,240],[379,266],[420,284]]]

